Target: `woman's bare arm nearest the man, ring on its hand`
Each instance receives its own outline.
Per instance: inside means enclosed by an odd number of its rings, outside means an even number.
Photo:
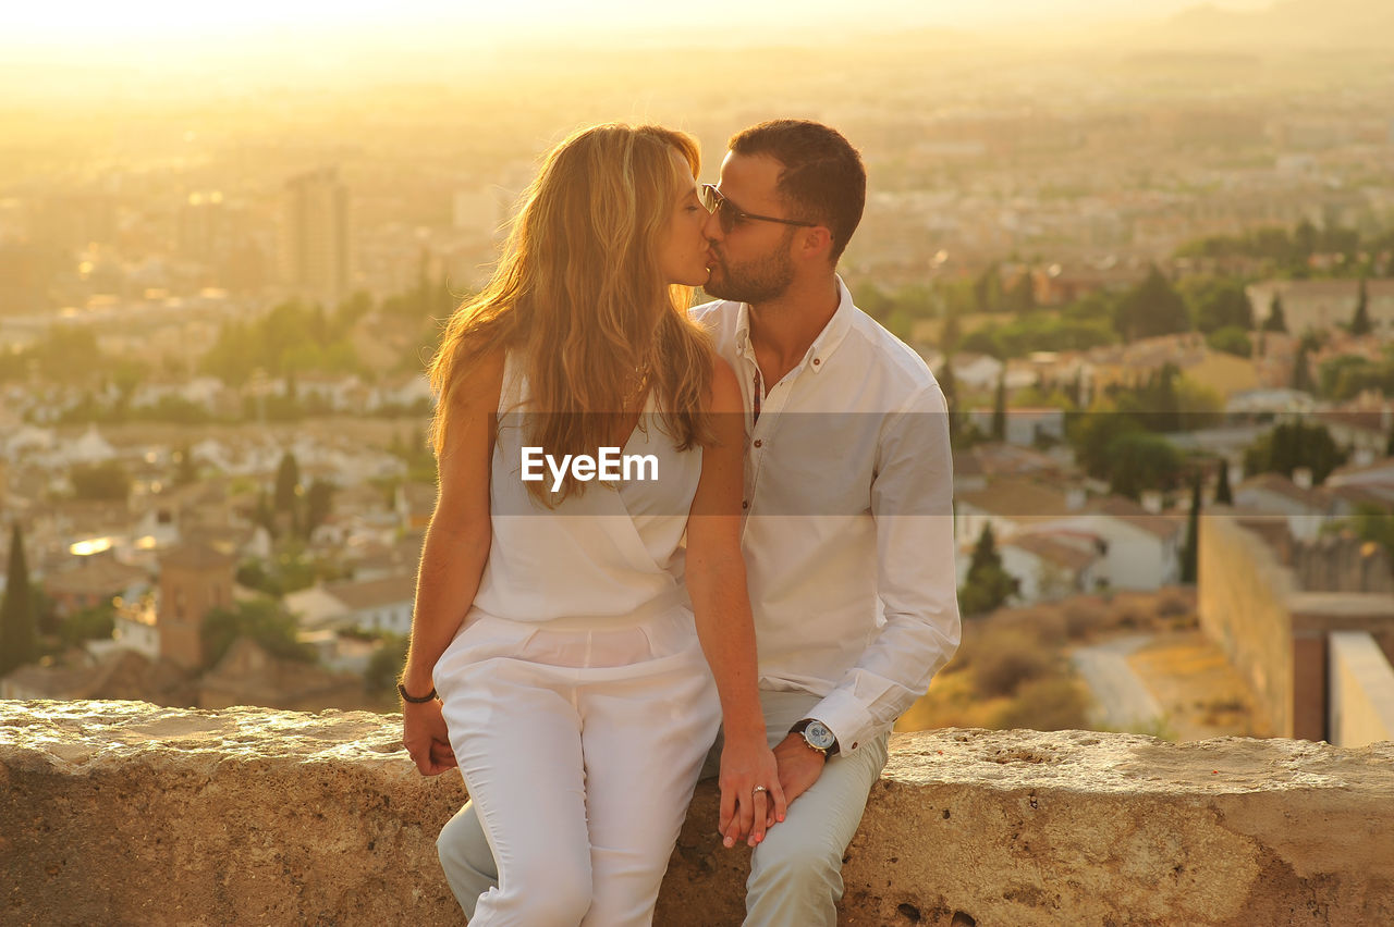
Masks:
[[[701,480],[687,519],[687,589],[697,637],[721,697],[721,832],[726,846],[754,846],[785,816],[783,791],[765,739],[756,678],[756,631],[740,555],[746,427],[730,366],[715,362],[711,412],[717,444],[703,450]],[[754,792],[763,785],[768,792]],[[772,805],[771,805],[772,802]]]

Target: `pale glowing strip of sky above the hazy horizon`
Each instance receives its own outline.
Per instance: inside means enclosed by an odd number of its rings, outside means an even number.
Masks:
[[[42,0],[3,3],[0,54],[78,49],[144,54],[183,43],[226,46],[252,39],[294,35],[378,33],[435,38],[517,39],[673,36],[675,43],[769,40],[781,33],[818,26],[896,31],[944,26],[953,29],[1030,25],[1090,25],[1125,17],[1164,17],[1200,0],[705,0],[701,4],[655,4],[654,0]],[[1223,8],[1257,8],[1269,0],[1210,0]]]

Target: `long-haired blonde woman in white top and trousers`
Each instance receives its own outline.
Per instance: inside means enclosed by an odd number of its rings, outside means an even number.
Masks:
[[[684,312],[707,278],[697,168],[657,127],[562,142],[432,362],[441,489],[403,740],[425,774],[457,761],[480,814],[499,885],[475,926],[650,923],[718,722],[728,845],[783,817],[739,550],[740,394]],[[602,447],[658,479],[524,479],[530,452]]]

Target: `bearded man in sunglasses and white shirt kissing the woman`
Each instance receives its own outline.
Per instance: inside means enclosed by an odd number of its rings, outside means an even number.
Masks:
[[[835,271],[864,202],[856,149],[797,120],[732,138],[707,188],[705,291],[721,301],[694,317],[744,387],[742,546],[789,800],[754,848],[747,926],[836,923],[842,856],[891,725],[959,640],[944,395]],[[438,845],[457,898],[488,889],[470,806]]]

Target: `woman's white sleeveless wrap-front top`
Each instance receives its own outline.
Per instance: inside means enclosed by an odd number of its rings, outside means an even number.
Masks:
[[[521,358],[507,352],[489,470],[489,558],[471,611],[520,622],[623,619],[680,601],[682,539],[701,476],[701,448],[679,451],[650,394],[622,454],[658,458],[657,480],[584,484],[546,508],[523,482],[528,415]],[[544,448],[545,450],[545,448]],[[546,490],[552,472],[541,468]],[[535,472],[535,469],[534,469]],[[618,490],[616,490],[618,487]]]

